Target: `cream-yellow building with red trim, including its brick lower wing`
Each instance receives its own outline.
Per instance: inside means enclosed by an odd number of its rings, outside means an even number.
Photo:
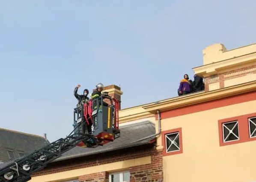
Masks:
[[[208,46],[193,71],[204,91],[120,111],[120,126],[154,124],[153,134],[134,142],[146,143],[104,153],[111,159],[95,165],[72,165],[99,161],[95,155],[53,162],[31,182],[115,182],[121,173],[129,179],[120,182],[256,182],[256,44]]]

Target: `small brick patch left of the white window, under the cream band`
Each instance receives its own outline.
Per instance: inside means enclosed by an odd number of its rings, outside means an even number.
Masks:
[[[109,173],[100,172],[100,173],[88,174],[88,175],[80,176],[78,180],[79,182],[109,182]]]

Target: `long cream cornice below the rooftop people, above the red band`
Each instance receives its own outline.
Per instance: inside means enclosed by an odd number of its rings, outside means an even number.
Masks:
[[[193,104],[198,104],[206,101],[212,101],[218,98],[224,98],[232,95],[241,94],[244,92],[250,92],[256,90],[256,81],[252,81],[246,84],[240,84],[232,87],[227,87],[211,92],[197,92],[192,95],[180,96],[178,98],[168,99],[161,101],[158,104],[151,104],[144,106],[143,108],[150,112],[155,113],[156,110],[165,111],[179,107],[185,107]]]

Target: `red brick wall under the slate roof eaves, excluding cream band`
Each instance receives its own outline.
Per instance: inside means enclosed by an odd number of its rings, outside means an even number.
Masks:
[[[32,176],[41,176],[92,166],[96,167],[98,165],[136,159],[145,156],[151,156],[151,164],[130,168],[131,181],[135,180],[134,182],[143,182],[143,180],[147,179],[147,182],[149,182],[149,180],[150,182],[161,182],[163,180],[162,151],[157,151],[155,149],[155,144],[145,144],[142,146],[100,153],[97,155],[95,154],[75,159],[68,159],[65,161],[53,162],[48,164],[45,169],[33,173]],[[107,171],[103,171],[101,173],[79,176],[78,179],[80,182],[95,182],[97,180],[99,182],[108,182],[108,175]]]

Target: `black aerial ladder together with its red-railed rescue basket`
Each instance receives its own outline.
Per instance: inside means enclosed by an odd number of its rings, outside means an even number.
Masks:
[[[110,104],[107,104],[110,103]],[[97,147],[120,136],[119,102],[104,92],[83,107],[74,108],[74,130],[65,138],[18,158],[0,169],[0,182],[27,182],[54,159],[75,146]],[[88,130],[91,127],[91,130]],[[88,132],[89,131],[89,132]]]

